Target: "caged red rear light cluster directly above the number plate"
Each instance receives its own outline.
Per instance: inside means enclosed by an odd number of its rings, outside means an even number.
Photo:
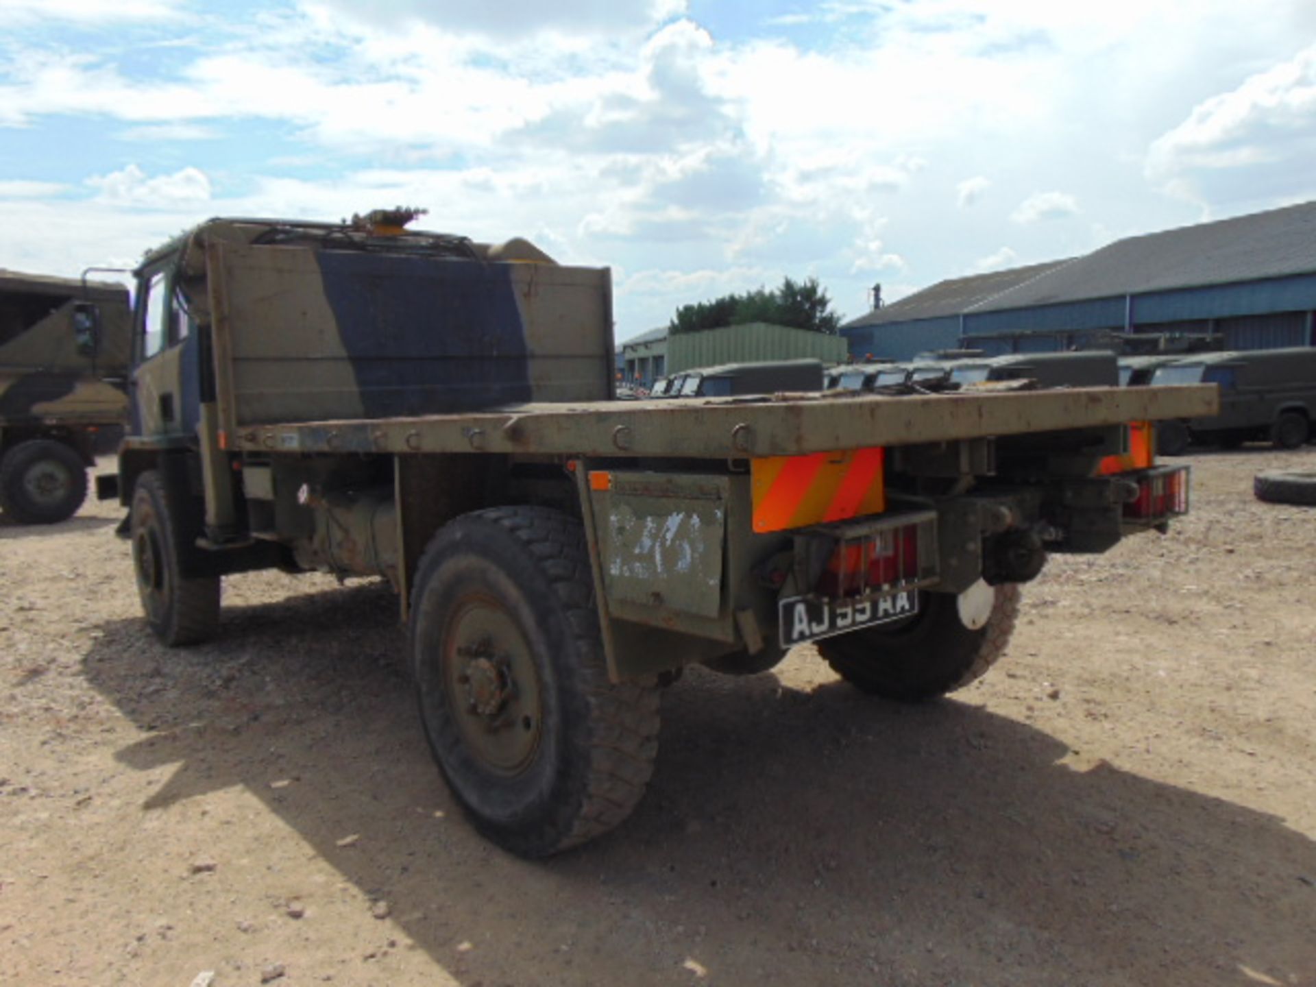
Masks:
[[[923,584],[936,575],[936,525],[920,519],[857,537],[844,537],[817,583],[821,596],[838,599]]]

